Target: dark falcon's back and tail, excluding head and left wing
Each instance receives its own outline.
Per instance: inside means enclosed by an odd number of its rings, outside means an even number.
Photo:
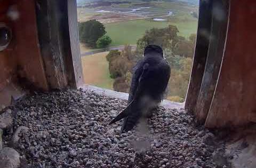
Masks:
[[[139,92],[140,94],[134,97],[135,92],[138,92],[139,74],[142,73],[142,66],[146,63],[149,64],[149,68],[142,85],[140,85],[142,89]],[[170,66],[165,59],[147,57],[137,63],[129,94],[129,103],[134,102],[129,108],[130,115],[124,119],[122,131],[131,130],[139,118],[147,116],[149,111],[162,101],[169,78]]]

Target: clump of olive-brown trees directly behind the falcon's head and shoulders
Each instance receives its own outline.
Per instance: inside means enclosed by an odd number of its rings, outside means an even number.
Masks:
[[[172,25],[160,29],[152,28],[147,30],[145,35],[137,41],[137,51],[132,51],[129,45],[125,46],[122,52],[110,51],[107,60],[109,61],[110,75],[115,80],[114,90],[129,91],[132,67],[140,59],[141,52],[146,45],[157,44],[163,47],[165,58],[171,66],[167,99],[183,102],[190,77],[196,35],[191,34],[186,39],[178,36],[178,32],[177,27]]]

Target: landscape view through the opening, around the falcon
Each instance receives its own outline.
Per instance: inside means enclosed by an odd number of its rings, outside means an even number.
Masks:
[[[198,8],[198,0],[77,1],[85,83],[128,93],[144,47],[157,44],[171,65],[166,99],[185,101]]]

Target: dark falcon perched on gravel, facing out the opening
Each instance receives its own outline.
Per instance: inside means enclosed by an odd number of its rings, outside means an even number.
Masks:
[[[143,59],[133,70],[132,83],[127,107],[113,119],[113,124],[124,118],[122,132],[130,131],[141,118],[150,116],[164,98],[171,69],[164,59],[163,50],[157,45],[148,45]]]

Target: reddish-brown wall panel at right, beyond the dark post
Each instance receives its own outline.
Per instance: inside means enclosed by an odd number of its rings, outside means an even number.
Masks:
[[[207,127],[256,122],[256,1],[230,2],[230,20],[221,71]]]

